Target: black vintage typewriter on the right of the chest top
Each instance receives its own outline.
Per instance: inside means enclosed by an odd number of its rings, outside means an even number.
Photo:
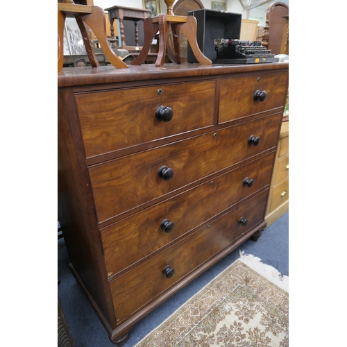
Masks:
[[[214,49],[217,51],[217,58],[212,60],[214,63],[255,64],[279,60],[259,41],[214,39]]]

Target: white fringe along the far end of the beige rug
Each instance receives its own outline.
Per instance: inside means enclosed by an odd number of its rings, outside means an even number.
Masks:
[[[239,250],[239,260],[250,267],[252,270],[259,273],[261,276],[271,281],[281,289],[289,293],[289,277],[281,275],[280,271],[273,266],[261,262],[260,257],[255,257],[251,254],[244,254],[244,251]]]

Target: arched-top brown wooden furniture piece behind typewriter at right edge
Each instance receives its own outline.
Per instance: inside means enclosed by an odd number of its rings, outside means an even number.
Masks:
[[[282,37],[287,25],[286,17],[289,16],[289,7],[282,2],[271,3],[266,10],[266,20],[263,31],[262,45],[271,49],[273,54],[284,53],[281,51]],[[289,34],[288,34],[289,46]],[[289,49],[288,49],[289,51]],[[285,53],[288,54],[288,53]]]

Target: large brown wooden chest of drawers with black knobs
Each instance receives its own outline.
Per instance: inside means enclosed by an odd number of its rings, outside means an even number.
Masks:
[[[58,220],[110,339],[266,226],[288,65],[58,74]]]

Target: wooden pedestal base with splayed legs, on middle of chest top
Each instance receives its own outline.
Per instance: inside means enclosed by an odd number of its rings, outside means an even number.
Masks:
[[[167,48],[167,35],[169,33],[169,25],[171,25],[171,31],[174,39],[174,51],[175,60],[177,64],[180,64],[180,44],[179,33],[182,31],[187,37],[190,46],[196,60],[201,64],[212,64],[212,61],[205,57],[201,50],[198,48],[198,42],[196,41],[196,19],[193,16],[176,16],[172,10],[172,4],[174,0],[165,0],[167,4],[166,15],[161,13],[156,17],[147,17],[144,19],[144,46],[139,56],[131,62],[131,65],[141,65],[148,55],[151,48],[151,42],[155,34],[159,31],[159,50],[158,58],[155,61],[155,66],[159,67],[164,65],[165,52]]]

